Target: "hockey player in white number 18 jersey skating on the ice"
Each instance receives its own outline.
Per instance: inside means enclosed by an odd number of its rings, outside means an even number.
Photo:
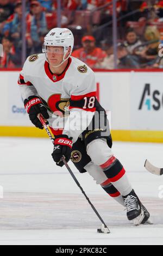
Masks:
[[[69,29],[54,28],[46,36],[42,54],[27,58],[18,84],[32,123],[43,129],[47,119],[54,135],[53,160],[64,155],[80,173],[88,172],[117,202],[127,208],[135,225],[147,222],[142,205],[122,164],[112,154],[112,139],[105,110],[96,99],[95,74],[71,57],[74,38]],[[70,114],[66,117],[69,109]]]

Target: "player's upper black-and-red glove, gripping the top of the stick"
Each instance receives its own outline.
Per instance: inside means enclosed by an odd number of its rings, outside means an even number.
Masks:
[[[45,119],[49,118],[49,115],[46,107],[42,105],[40,98],[37,96],[29,96],[28,99],[24,100],[24,106],[29,114],[30,121],[32,121],[32,123],[39,129],[43,129],[41,121],[37,118],[37,115],[42,114],[42,117]],[[48,124],[48,121],[46,124]]]

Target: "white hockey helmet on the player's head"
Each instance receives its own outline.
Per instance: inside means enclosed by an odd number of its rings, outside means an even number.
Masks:
[[[44,38],[44,44],[42,47],[42,52],[46,53],[46,59],[47,59],[47,46],[62,46],[64,47],[64,57],[62,59],[62,62],[58,65],[60,66],[62,63],[64,63],[71,55],[74,45],[74,38],[73,34],[68,28],[53,28],[51,31],[48,32],[48,34]],[[71,52],[68,55],[68,57],[65,59],[65,55],[67,53],[68,47],[71,46]],[[47,59],[48,61],[48,59]],[[54,66],[54,67],[58,67]]]

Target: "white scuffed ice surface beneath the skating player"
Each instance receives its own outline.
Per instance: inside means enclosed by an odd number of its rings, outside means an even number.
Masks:
[[[0,245],[162,245],[163,176],[148,173],[147,158],[163,166],[162,144],[114,142],[122,162],[154,224],[133,227],[121,205],[110,198],[89,174],[74,174],[110,234],[98,234],[98,220],[65,167],[55,166],[49,139],[0,138]],[[163,194],[163,193],[162,193]]]

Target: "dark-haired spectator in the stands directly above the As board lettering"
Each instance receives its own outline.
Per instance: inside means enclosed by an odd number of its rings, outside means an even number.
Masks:
[[[137,37],[134,29],[129,28],[126,32],[126,40],[123,42],[123,44],[130,54],[135,54],[135,47],[142,45],[142,41]]]

